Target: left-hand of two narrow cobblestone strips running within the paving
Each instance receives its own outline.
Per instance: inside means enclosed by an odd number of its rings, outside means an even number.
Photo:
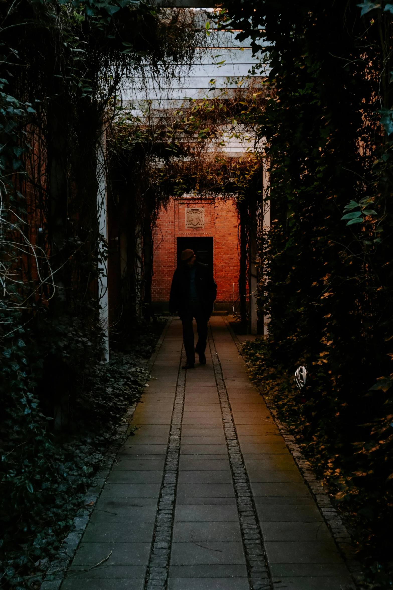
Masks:
[[[184,391],[186,387],[186,371],[180,372],[181,364],[183,361],[185,362],[184,359],[182,360],[182,356],[183,354],[180,356],[163,483],[161,484],[160,499],[158,500],[153,543],[144,590],[164,590],[167,587],[177,477],[179,474],[181,422],[183,420]]]

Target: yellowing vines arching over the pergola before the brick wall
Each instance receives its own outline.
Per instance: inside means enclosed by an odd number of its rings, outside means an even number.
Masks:
[[[129,220],[130,239],[135,239],[136,228],[140,231],[145,228],[142,242],[146,317],[151,314],[153,256],[150,253],[158,212],[166,207],[171,196],[194,192],[202,199],[219,197],[236,202],[240,219],[240,308],[242,320],[247,322],[250,195],[255,195],[256,202],[256,195],[260,194],[262,202],[264,155],[256,150],[255,126],[247,122],[239,125],[239,117],[245,109],[262,110],[269,92],[262,79],[248,80],[237,89],[223,89],[214,99],[185,100],[181,107],[152,109],[147,104],[138,117],[125,109],[114,122],[108,139],[111,175],[114,179],[123,176],[129,185],[128,194],[133,195],[130,198],[136,198],[139,203],[140,217],[134,208],[133,219]],[[226,154],[231,139],[248,146],[243,148],[240,158]],[[116,185],[113,189],[121,191],[118,182]],[[132,264],[129,273],[131,281],[134,280]]]

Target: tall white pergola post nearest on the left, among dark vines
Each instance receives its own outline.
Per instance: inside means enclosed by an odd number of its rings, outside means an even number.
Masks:
[[[98,304],[100,305],[100,324],[104,332],[103,360],[109,360],[109,306],[108,306],[108,223],[107,223],[107,173],[105,156],[107,137],[103,132],[97,146],[97,215],[98,215]]]

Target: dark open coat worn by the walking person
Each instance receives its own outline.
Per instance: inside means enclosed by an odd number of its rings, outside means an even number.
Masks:
[[[195,285],[202,311],[209,318],[213,311],[213,303],[217,296],[217,284],[206,264],[194,263],[196,267]],[[174,271],[169,297],[169,313],[186,312],[190,298],[190,268],[184,264]]]

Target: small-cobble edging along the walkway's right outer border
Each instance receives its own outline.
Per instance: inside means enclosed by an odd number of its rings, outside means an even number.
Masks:
[[[240,355],[244,358],[242,344],[237,339],[235,332],[233,332],[232,327],[224,316],[223,320],[226,323],[230,335],[232,336],[233,342],[235,342],[237,350],[239,350]],[[246,359],[245,362],[247,362]],[[257,386],[257,384],[255,385]],[[259,386],[257,386],[257,388],[260,391]],[[262,395],[267,407],[272,413],[273,419],[279,428],[280,434],[282,435],[285,444],[292,454],[292,457],[295,460],[296,466],[298,466],[303,479],[311,491],[313,499],[318,506],[319,512],[321,512],[323,520],[325,520],[326,525],[328,525],[339,551],[341,552],[342,556],[344,556],[346,566],[351,573],[355,585],[359,585],[362,581],[362,567],[361,564],[354,558],[355,547],[352,543],[351,535],[349,535],[346,526],[342,522],[338,510],[333,506],[329,494],[325,491],[325,489],[323,489],[323,481],[316,477],[311,464],[306,460],[305,456],[300,450],[299,445],[296,443],[295,437],[289,434],[288,428],[285,426],[285,424],[282,424],[282,422],[279,421],[278,411],[275,409],[272,402],[269,399],[266,399],[266,397],[262,394],[262,391],[260,391],[260,394]]]

